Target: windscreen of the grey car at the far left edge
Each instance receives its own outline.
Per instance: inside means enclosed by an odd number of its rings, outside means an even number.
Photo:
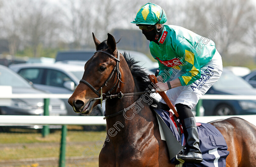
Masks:
[[[9,85],[17,88],[29,88],[31,85],[20,75],[8,68],[0,67],[0,85]]]

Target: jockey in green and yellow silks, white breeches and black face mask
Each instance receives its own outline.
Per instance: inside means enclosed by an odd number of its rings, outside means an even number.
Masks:
[[[166,20],[165,11],[160,6],[147,3],[131,23],[135,23],[150,41],[151,55],[158,61],[159,82],[155,90],[167,91],[183,122],[187,145],[184,155],[177,155],[177,158],[199,163],[202,162],[202,154],[191,108],[219,79],[222,59],[212,40],[180,26],[164,25]],[[163,99],[159,105],[170,110]]]

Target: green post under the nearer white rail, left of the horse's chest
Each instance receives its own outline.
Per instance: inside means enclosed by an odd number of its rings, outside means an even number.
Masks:
[[[61,129],[61,142],[60,142],[60,153],[59,153],[59,167],[65,167],[66,159],[66,135],[67,125],[62,125]]]

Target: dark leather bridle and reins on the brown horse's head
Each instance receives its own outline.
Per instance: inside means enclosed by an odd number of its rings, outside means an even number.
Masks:
[[[105,54],[108,54],[110,57],[114,58],[116,60],[116,66],[113,68],[112,72],[110,73],[110,75],[108,76],[108,79],[104,82],[104,84],[97,90],[95,89],[89,82],[85,81],[84,79],[81,79],[80,82],[83,82],[85,83],[86,85],[88,85],[97,95],[99,98],[94,98],[94,100],[96,99],[100,99],[101,100],[101,106],[102,106],[102,101],[103,101],[103,97],[102,97],[102,87],[103,86],[107,86],[107,83],[108,81],[112,78],[112,76],[114,75],[114,73],[117,71],[117,80],[116,80],[116,83],[114,84],[114,86],[105,94],[106,97],[105,99],[112,99],[112,98],[116,98],[116,97],[119,97],[120,99],[122,99],[123,96],[134,96],[134,95],[141,95],[141,94],[144,94],[144,93],[154,93],[155,91],[148,91],[148,92],[135,92],[135,93],[122,93],[122,92],[119,92],[118,94],[115,94],[115,95],[110,95],[110,93],[115,89],[116,87],[116,92],[117,92],[117,89],[119,88],[119,84],[121,81],[121,78],[122,78],[122,75],[121,75],[121,72],[119,70],[119,63],[120,63],[120,53],[119,51],[117,50],[117,58],[115,56],[113,56],[112,54],[108,53],[108,52],[105,52],[103,50],[98,50],[96,51],[95,53],[97,52],[102,52],[102,53],[105,53]],[[94,54],[95,54],[94,53]],[[124,82],[122,82],[124,83]],[[101,91],[101,93],[99,93]],[[116,93],[115,92],[115,93]],[[104,100],[105,100],[104,99]],[[139,99],[138,99],[139,100]],[[138,101],[137,100],[137,101]],[[136,102],[137,102],[136,101]],[[135,104],[136,102],[134,102],[133,104]],[[121,110],[115,114],[112,114],[112,115],[108,115],[108,116],[105,116],[104,119],[106,118],[111,118],[111,117],[115,117],[116,115],[119,115],[121,113],[123,113],[123,111],[126,111],[126,110],[129,110],[133,104],[129,107],[127,107],[126,109],[124,110]]]

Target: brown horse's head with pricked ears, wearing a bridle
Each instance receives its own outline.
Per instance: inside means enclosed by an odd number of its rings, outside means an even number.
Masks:
[[[129,70],[111,34],[108,33],[103,42],[93,34],[93,40],[96,52],[84,65],[84,75],[68,100],[76,113],[90,114],[93,107],[101,103],[102,92],[103,96],[120,92],[124,85],[123,69]]]

